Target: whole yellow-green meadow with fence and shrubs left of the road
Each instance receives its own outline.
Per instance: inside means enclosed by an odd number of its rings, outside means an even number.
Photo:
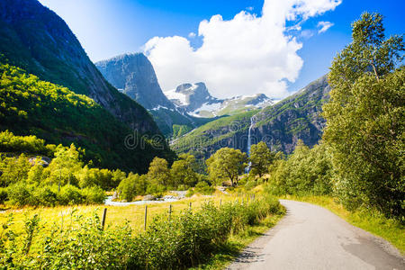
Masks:
[[[104,229],[103,208],[107,209]],[[144,215],[145,205],[4,211],[0,265],[218,269],[274,226],[284,207],[272,196],[257,195],[253,200],[251,193],[215,193],[149,203],[146,230]]]

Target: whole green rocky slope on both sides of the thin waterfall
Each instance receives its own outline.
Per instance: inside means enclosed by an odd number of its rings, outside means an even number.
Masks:
[[[280,103],[261,111],[242,112],[211,121],[172,142],[177,153],[192,152],[210,157],[219,148],[231,147],[247,151],[248,130],[252,124],[251,142],[265,141],[273,150],[289,154],[298,139],[312,146],[321,137],[325,124],[321,106],[329,99],[327,76],[307,85]]]

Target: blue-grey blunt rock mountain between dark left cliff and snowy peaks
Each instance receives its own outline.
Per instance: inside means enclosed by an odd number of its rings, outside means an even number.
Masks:
[[[147,108],[166,136],[172,135],[174,125],[195,126],[193,118],[163,94],[152,64],[142,53],[121,55],[95,66],[112,85]]]

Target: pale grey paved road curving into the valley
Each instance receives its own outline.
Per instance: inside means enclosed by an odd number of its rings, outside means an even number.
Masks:
[[[228,269],[405,269],[382,238],[310,203],[280,201],[283,220],[249,245]]]

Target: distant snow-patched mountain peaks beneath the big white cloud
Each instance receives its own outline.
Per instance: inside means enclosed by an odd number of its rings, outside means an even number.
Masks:
[[[240,95],[229,99],[211,96],[204,83],[183,84],[165,92],[178,108],[196,117],[215,117],[265,108],[273,104],[266,94]]]

